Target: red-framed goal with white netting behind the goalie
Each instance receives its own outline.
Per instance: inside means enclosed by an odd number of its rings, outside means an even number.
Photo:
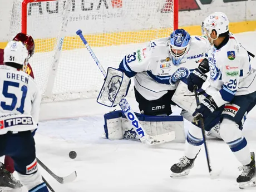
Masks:
[[[178,0],[14,0],[10,39],[33,37],[29,63],[43,100],[63,101],[96,97],[104,80],[78,29],[106,70],[176,28]]]

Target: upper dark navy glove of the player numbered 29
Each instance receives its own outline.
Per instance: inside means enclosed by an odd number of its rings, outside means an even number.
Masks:
[[[204,58],[198,68],[195,68],[187,79],[189,91],[193,92],[194,85],[198,86],[198,88],[203,86],[203,83],[207,80],[207,76],[205,75],[207,72],[209,72],[208,60]]]

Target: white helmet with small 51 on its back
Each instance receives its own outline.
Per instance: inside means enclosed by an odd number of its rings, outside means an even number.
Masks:
[[[4,48],[3,62],[12,62],[19,65],[26,65],[28,51],[21,41],[10,41]]]

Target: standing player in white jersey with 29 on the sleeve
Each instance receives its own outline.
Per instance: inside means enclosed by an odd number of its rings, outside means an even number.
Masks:
[[[193,113],[195,126],[189,129],[185,156],[171,167],[171,176],[187,175],[194,166],[204,142],[198,123],[200,117],[204,119],[206,131],[212,120],[220,118],[220,136],[242,164],[237,183],[245,188],[251,183],[255,185],[255,159],[239,127],[256,103],[256,70],[250,65],[247,50],[229,32],[228,17],[224,13],[210,14],[203,28],[211,44],[208,51],[210,86],[205,90],[208,96]],[[188,78],[190,91],[201,81],[199,75],[191,73]]]

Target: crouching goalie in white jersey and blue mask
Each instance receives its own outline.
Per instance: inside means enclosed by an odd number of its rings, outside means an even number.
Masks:
[[[184,29],[176,29],[169,37],[150,41],[146,47],[139,48],[124,57],[118,70],[125,73],[129,78],[134,77],[135,97],[141,112],[138,116],[141,119],[144,119],[144,115],[154,117],[163,115],[166,118],[159,120],[164,121],[163,126],[170,127],[171,124],[175,124],[175,122],[170,122],[174,121],[172,120],[174,117],[168,116],[172,114],[171,105],[176,105],[171,99],[179,81],[181,79],[185,80],[190,71],[197,68],[199,63],[204,60],[205,51],[206,38],[190,36]],[[205,75],[204,77],[206,80]],[[107,87],[102,88],[102,90],[107,90]],[[120,114],[120,111],[114,111],[105,115],[106,136],[111,137],[111,139],[136,137],[135,131],[127,124],[116,124],[117,118],[121,117]],[[186,111],[183,111],[181,115],[186,119],[192,119],[191,114]],[[151,126],[154,124],[158,125],[150,121]],[[164,130],[163,127],[156,126],[149,129],[144,127],[144,129],[149,134],[152,132],[158,132],[159,134]],[[112,127],[111,131],[110,127]],[[153,131],[153,129],[156,131]],[[157,131],[157,129],[160,130]],[[174,126],[173,129],[176,132],[176,139],[179,137],[178,140],[185,140],[183,127]],[[120,134],[115,137],[116,132],[120,130],[123,131],[123,135]],[[111,134],[114,136],[111,136]]]

